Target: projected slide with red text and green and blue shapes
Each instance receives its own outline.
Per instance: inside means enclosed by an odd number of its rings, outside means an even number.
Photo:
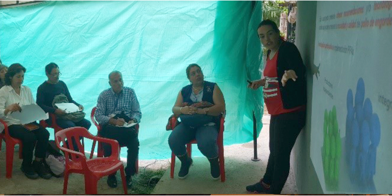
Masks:
[[[311,159],[324,194],[392,193],[392,1],[318,1]]]

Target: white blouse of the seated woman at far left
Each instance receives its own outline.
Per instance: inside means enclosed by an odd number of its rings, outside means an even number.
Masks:
[[[13,124],[21,124],[21,121],[12,118],[8,112],[7,116],[4,116],[4,110],[11,104],[19,103],[20,106],[36,104],[31,93],[30,88],[27,86],[21,86],[21,95],[16,94],[12,86],[3,86],[0,89],[0,118],[7,123],[7,126]],[[4,129],[3,125],[0,124],[0,130]]]

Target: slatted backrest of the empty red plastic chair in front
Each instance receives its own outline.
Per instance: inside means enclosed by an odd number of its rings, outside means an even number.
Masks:
[[[63,150],[65,154],[66,164],[70,162],[69,160],[70,156],[72,158],[72,162],[82,162],[82,165],[86,164],[86,157],[84,156],[84,147],[80,143],[79,140],[80,137],[91,138],[93,137],[93,135],[91,135],[86,128],[79,127],[79,126],[66,128],[58,131],[55,134],[54,139],[56,141],[56,145],[58,148]],[[66,144],[66,141],[68,142],[68,146]],[[79,148],[79,152],[73,149],[73,145],[74,145],[73,143],[76,143],[77,147]]]

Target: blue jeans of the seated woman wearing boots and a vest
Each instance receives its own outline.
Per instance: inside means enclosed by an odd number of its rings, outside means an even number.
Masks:
[[[185,145],[196,138],[200,152],[207,158],[215,158],[218,156],[218,131],[217,125],[191,128],[180,123],[169,136],[170,149],[177,156],[184,155],[186,154]]]

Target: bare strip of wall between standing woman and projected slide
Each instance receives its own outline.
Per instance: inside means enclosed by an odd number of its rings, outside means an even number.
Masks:
[[[297,1],[297,24],[295,45],[305,65],[313,65],[316,33],[317,1]],[[323,194],[315,168],[310,159],[311,111],[313,77],[307,70],[307,115],[306,125],[299,134],[292,151],[292,164],[299,194]]]

